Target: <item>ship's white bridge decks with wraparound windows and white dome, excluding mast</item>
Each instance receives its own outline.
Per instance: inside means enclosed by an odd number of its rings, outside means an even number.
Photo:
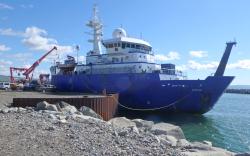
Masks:
[[[141,39],[127,37],[122,28],[113,31],[113,38],[103,40],[105,54],[88,53],[87,64],[155,63],[151,45]]]

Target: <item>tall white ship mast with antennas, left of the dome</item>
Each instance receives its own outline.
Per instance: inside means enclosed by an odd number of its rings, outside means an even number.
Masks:
[[[93,43],[93,54],[101,54],[102,23],[98,18],[97,5],[94,5],[92,19],[86,24],[93,29],[93,39],[88,40]]]

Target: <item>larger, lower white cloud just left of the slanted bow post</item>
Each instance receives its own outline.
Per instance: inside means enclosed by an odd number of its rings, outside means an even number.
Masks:
[[[210,62],[210,63],[199,63],[193,60],[188,61],[188,68],[191,70],[208,70],[208,69],[216,69],[219,65],[219,62]]]

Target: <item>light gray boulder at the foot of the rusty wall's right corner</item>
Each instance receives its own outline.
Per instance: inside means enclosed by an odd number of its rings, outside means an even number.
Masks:
[[[118,118],[113,118],[108,121],[114,128],[130,128],[130,127],[136,127],[136,124],[125,118],[125,117],[118,117]]]

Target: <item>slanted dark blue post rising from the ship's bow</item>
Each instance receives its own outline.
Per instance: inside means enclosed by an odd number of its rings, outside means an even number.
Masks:
[[[214,76],[223,76],[224,75],[226,65],[228,62],[228,58],[229,58],[230,53],[232,51],[232,47],[233,47],[233,45],[236,45],[236,44],[237,44],[236,42],[227,42],[227,47],[225,49],[225,52],[221,58],[220,64],[219,64]]]

